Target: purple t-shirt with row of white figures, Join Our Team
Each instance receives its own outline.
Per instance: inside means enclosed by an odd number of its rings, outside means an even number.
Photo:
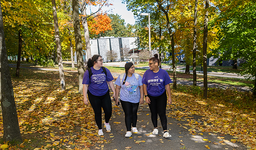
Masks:
[[[165,86],[171,83],[167,71],[159,68],[157,73],[154,73],[152,70],[148,69],[145,71],[142,83],[147,85],[147,94],[151,96],[160,96],[162,95],[166,88]]]

